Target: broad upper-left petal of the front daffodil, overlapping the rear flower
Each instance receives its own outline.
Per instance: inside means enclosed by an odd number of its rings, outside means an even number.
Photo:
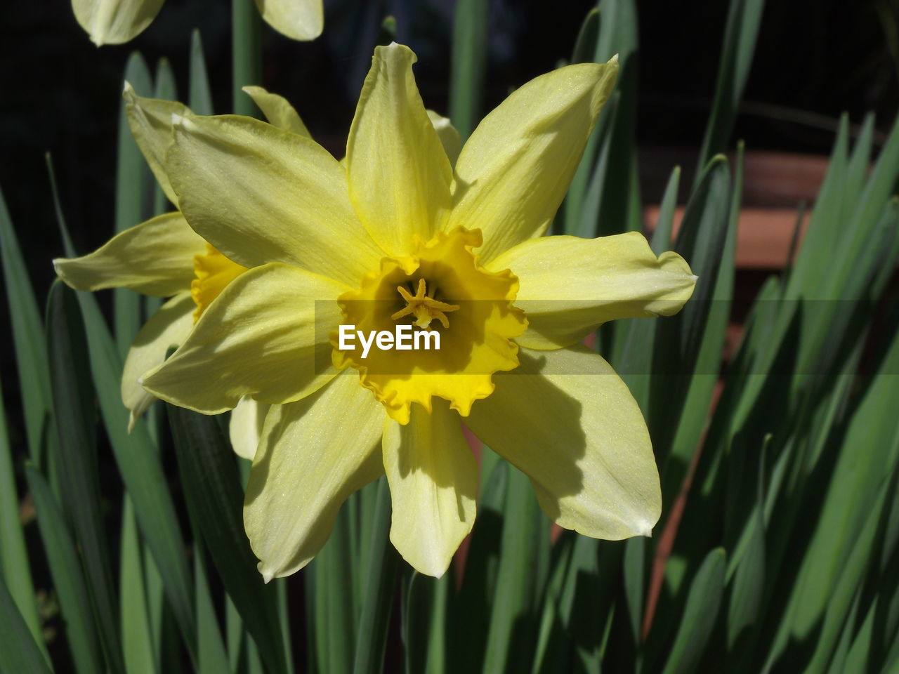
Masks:
[[[191,226],[245,267],[287,262],[351,286],[383,253],[346,173],[314,140],[248,117],[184,117],[166,168]]]

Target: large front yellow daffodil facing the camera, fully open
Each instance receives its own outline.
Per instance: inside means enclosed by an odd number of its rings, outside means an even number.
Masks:
[[[266,581],[308,563],[343,501],[385,472],[391,541],[418,571],[445,572],[476,512],[463,421],[530,476],[562,527],[620,539],[648,536],[659,518],[645,421],[579,342],[615,318],[675,313],[696,277],[637,233],[541,237],[617,59],[524,84],[455,166],[414,61],[400,45],[375,50],[345,169],[309,137],[257,120],[173,122],[165,169],[182,214],[250,269],[144,386],[207,414],[247,395],[273,405],[244,510]],[[441,350],[363,358],[338,348],[346,324],[427,326]]]

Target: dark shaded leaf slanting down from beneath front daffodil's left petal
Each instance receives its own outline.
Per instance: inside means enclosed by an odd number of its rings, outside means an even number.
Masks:
[[[191,517],[228,596],[273,672],[287,669],[281,643],[278,599],[256,570],[244,532],[240,474],[234,452],[214,417],[168,405],[178,473]]]

